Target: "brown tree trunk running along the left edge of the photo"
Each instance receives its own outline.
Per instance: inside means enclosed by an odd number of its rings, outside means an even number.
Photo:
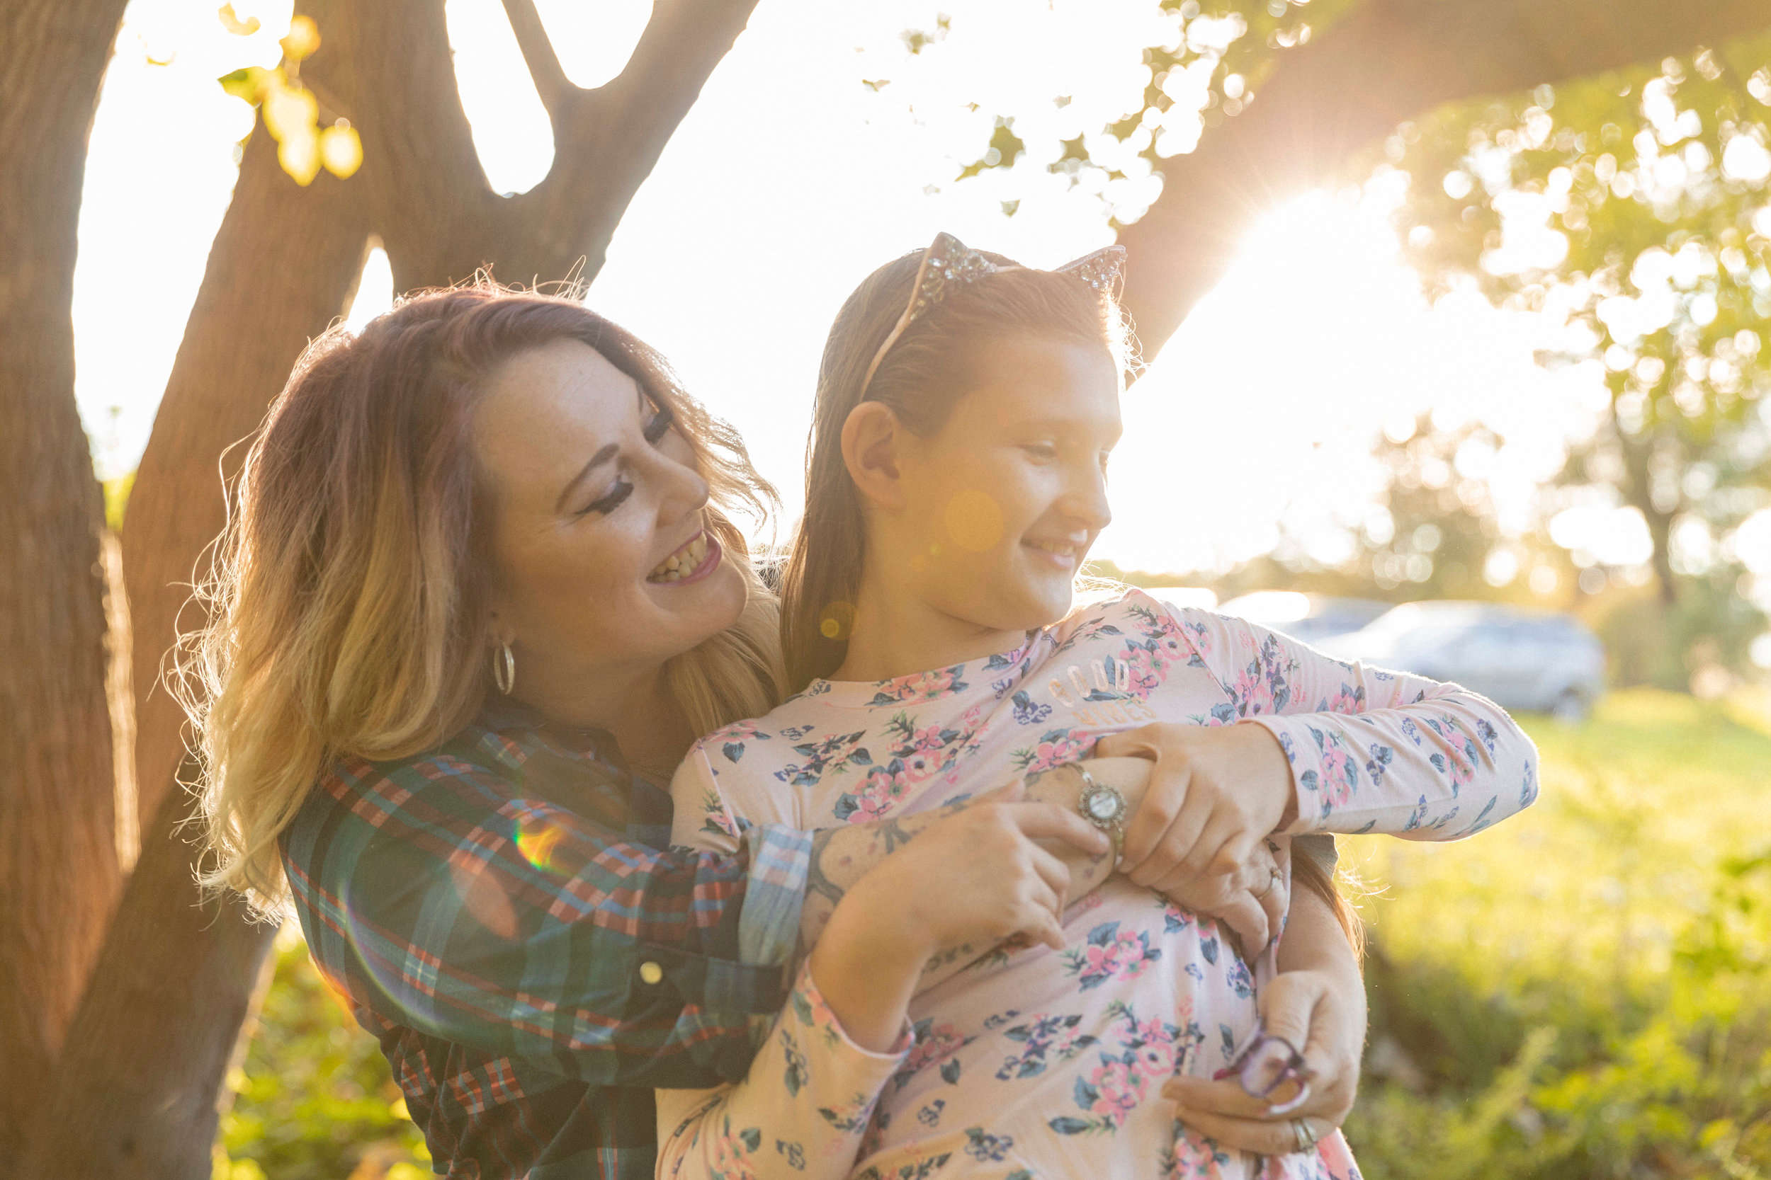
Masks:
[[[0,16],[0,1175],[117,899],[104,506],[74,409],[87,136],[122,0]]]

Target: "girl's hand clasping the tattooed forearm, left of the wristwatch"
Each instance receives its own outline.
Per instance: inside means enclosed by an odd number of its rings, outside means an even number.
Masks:
[[[1110,842],[1077,812],[1029,803],[1024,793],[1025,784],[1011,782],[937,819],[868,870],[838,913],[868,909],[875,936],[921,957],[994,946],[1015,934],[1061,950],[1070,869],[1038,840],[1089,856],[1107,854]]]

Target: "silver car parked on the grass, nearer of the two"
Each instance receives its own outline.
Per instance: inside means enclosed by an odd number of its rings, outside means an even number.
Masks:
[[[1507,709],[1582,720],[1605,693],[1605,647],[1578,619],[1481,601],[1411,601],[1319,647],[1433,679]]]

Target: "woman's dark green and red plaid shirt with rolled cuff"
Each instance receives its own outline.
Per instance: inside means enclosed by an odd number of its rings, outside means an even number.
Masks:
[[[785,1001],[811,839],[662,851],[669,794],[508,702],[328,771],[283,835],[308,948],[448,1176],[643,1180],[653,1086],[744,1077]]]

